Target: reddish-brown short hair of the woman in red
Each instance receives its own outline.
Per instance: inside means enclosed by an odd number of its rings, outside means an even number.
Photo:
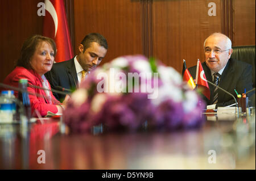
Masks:
[[[56,44],[55,41],[49,37],[34,35],[24,41],[22,45],[22,49],[20,50],[20,56],[17,61],[16,66],[22,66],[26,69],[32,69],[30,65],[30,61],[32,56],[35,53],[36,47],[43,41],[49,43],[54,51],[54,57],[56,56]]]

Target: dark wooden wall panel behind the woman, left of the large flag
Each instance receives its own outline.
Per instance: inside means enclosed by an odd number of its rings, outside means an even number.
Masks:
[[[37,15],[38,2],[42,1],[0,1],[1,82],[14,69],[24,40],[42,33],[43,18]]]

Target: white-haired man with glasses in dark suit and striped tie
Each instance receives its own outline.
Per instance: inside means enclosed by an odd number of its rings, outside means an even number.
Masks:
[[[230,58],[232,51],[232,42],[229,37],[222,33],[213,33],[204,41],[205,62],[202,66],[208,81],[215,83],[237,98],[234,89],[237,90],[238,94],[244,93],[245,89],[247,91],[253,89],[252,68],[245,62]],[[188,70],[195,78],[196,66]],[[225,92],[210,84],[209,89],[210,100],[204,97],[208,105],[207,108],[214,109],[218,106],[229,106],[234,103],[232,96]]]

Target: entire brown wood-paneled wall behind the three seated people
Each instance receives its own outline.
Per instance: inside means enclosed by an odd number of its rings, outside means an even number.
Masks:
[[[0,81],[14,68],[28,36],[41,34],[43,0],[0,0]],[[208,4],[216,3],[216,16]],[[65,0],[75,53],[83,37],[99,32],[109,50],[104,62],[126,54],[159,58],[181,72],[204,61],[203,43],[213,32],[230,36],[233,45],[255,44],[255,0]]]

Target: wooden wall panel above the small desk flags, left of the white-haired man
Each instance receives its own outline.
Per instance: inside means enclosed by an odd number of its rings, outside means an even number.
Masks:
[[[212,1],[154,1],[154,56],[180,73],[183,59],[187,67],[204,61],[203,43],[213,32],[221,32],[221,1],[216,3],[216,16],[208,15]]]

